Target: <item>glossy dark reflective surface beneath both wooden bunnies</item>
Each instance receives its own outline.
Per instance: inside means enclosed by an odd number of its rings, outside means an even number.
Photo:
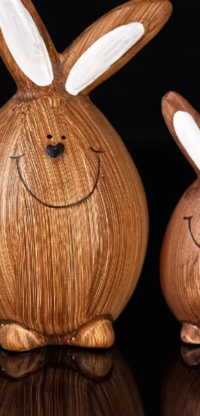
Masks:
[[[200,347],[135,339],[123,355],[0,349],[0,416],[200,415]]]

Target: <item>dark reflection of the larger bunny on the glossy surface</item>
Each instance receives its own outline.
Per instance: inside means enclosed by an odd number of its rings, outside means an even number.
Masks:
[[[1,352],[0,364],[0,416],[144,415],[133,375],[117,351]]]

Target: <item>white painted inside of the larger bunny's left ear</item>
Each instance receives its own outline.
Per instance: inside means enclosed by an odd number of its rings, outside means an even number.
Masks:
[[[45,43],[20,0],[0,0],[0,29],[24,74],[39,86],[50,85],[53,69]]]

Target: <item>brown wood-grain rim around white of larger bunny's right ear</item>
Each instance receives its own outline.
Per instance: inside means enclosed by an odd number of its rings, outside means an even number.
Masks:
[[[114,72],[126,65],[164,26],[172,13],[168,0],[132,0],[116,7],[88,27],[63,53],[61,79],[65,81],[76,60],[101,36],[117,27],[132,22],[143,24],[142,38],[119,59],[110,69],[86,87],[82,94],[88,94],[97,85],[108,79]]]

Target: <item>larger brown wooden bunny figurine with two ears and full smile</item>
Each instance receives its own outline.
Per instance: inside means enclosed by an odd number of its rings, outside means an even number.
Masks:
[[[166,0],[129,1],[58,54],[29,0],[0,0],[16,95],[0,111],[0,345],[110,347],[147,245],[137,170],[88,99],[165,24]]]

